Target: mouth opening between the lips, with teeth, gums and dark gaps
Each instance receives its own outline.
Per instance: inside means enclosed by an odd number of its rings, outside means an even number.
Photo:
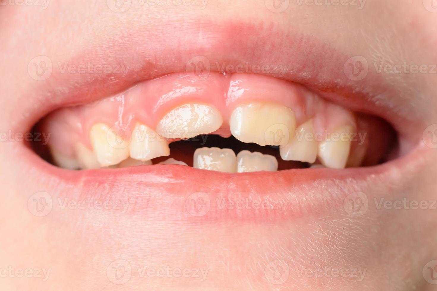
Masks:
[[[396,148],[394,131],[380,118],[296,83],[239,73],[172,73],[58,109],[37,127],[51,134],[52,163],[69,170],[153,164],[227,173],[342,169],[376,165]]]

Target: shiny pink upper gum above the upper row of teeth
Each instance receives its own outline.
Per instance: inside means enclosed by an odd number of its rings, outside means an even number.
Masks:
[[[90,147],[90,128],[99,122],[130,129],[139,121],[155,129],[160,119],[173,108],[186,103],[216,107],[222,114],[222,127],[215,132],[229,136],[229,118],[239,104],[277,103],[290,107],[300,125],[313,118],[316,132],[332,132],[341,125],[355,127],[354,114],[326,101],[297,83],[257,74],[172,73],[143,81],[121,94],[90,104],[62,108],[42,122],[52,132],[52,147],[73,156],[73,145],[80,141]],[[126,132],[129,134],[129,132]]]

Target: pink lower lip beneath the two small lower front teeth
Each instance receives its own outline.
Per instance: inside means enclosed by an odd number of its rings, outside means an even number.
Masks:
[[[221,173],[180,165],[69,171],[43,161],[31,149],[17,146],[15,154],[29,161],[29,176],[38,184],[45,177],[55,197],[123,201],[125,212],[150,217],[206,222],[284,221],[347,211],[343,202],[354,189],[373,195],[375,187],[402,184],[408,169],[421,163],[426,149],[378,166],[333,170],[291,169],[277,172]],[[19,153],[18,153],[19,152]],[[406,167],[408,165],[409,167]],[[48,179],[48,180],[47,180]],[[34,184],[34,186],[35,186]]]

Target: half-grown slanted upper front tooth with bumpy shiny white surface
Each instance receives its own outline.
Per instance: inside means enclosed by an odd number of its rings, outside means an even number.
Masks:
[[[189,139],[215,132],[222,123],[222,115],[215,107],[184,104],[167,113],[158,123],[156,131],[168,139]]]

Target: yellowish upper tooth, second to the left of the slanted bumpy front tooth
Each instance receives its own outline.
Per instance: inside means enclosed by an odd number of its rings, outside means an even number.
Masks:
[[[97,123],[90,132],[91,145],[101,166],[111,166],[129,157],[129,140],[108,125]]]

